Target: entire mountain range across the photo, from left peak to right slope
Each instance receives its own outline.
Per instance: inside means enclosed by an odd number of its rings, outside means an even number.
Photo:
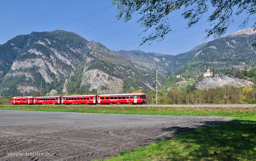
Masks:
[[[63,30],[18,35],[0,45],[0,95],[30,95],[56,89],[59,94],[119,93],[153,90],[168,77],[201,75],[255,64],[252,29],[205,42],[178,55],[140,50],[111,51]],[[167,80],[168,81],[168,80]]]

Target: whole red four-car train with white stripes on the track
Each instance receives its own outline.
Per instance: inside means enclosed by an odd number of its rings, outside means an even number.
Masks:
[[[76,95],[76,96],[45,96],[45,97],[13,97],[12,104],[140,104],[147,103],[145,93],[124,93],[124,94],[100,94],[100,95]]]

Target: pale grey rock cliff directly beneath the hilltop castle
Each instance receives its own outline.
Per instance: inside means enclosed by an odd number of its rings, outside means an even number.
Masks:
[[[223,87],[224,85],[239,87],[253,87],[254,83],[249,80],[239,79],[230,75],[217,76],[217,77],[205,77],[202,81],[196,84],[198,89],[208,89],[214,87]]]

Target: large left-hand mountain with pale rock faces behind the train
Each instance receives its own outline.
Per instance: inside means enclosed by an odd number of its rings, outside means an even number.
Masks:
[[[149,91],[156,77],[147,65],[67,31],[19,35],[0,45],[0,51],[1,96],[40,91],[41,79],[44,93]]]

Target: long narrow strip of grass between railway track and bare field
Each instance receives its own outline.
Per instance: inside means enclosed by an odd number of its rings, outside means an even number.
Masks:
[[[186,116],[254,116],[256,107],[152,107],[152,106],[0,106],[1,110],[80,112],[80,113],[119,113],[149,115],[186,115]]]

